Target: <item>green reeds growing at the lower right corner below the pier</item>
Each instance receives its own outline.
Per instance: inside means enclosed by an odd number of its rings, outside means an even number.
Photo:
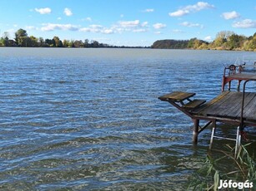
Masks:
[[[256,164],[250,154],[248,154],[246,149],[248,144],[241,146],[237,157],[233,156],[233,148],[229,145],[227,146],[231,152],[220,151],[222,156],[218,159],[213,159],[210,154],[207,155],[203,166],[198,169],[196,174],[193,174],[188,190],[215,191],[218,190],[218,187],[221,187],[220,182],[223,184],[223,181],[225,181],[224,184],[228,185],[228,188],[226,187],[221,190],[238,190],[238,185],[242,185],[242,183],[243,188],[241,186],[240,190],[256,190]],[[233,169],[220,169],[223,159],[230,161],[233,164]],[[232,188],[233,185],[236,188]]]

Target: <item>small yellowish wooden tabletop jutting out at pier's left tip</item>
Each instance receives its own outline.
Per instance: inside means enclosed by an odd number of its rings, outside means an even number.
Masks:
[[[188,99],[189,97],[194,96],[195,93],[188,93],[188,92],[183,92],[183,91],[173,91],[173,93],[169,93],[164,96],[158,97],[159,100],[163,101],[168,101],[168,100],[173,100],[175,102],[180,102],[183,100]]]

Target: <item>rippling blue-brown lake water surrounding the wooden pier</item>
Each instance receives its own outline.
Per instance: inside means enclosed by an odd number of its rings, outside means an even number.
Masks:
[[[186,189],[210,130],[193,146],[192,121],[158,96],[210,100],[242,56],[255,52],[0,48],[0,189]]]

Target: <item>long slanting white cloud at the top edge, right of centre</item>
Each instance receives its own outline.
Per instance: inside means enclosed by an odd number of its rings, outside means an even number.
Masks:
[[[197,2],[194,5],[188,5],[186,7],[178,9],[176,12],[169,12],[170,17],[182,17],[191,12],[198,12],[206,8],[213,8],[214,6],[208,2]]]

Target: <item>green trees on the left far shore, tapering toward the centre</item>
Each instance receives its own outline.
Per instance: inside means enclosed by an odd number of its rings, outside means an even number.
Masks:
[[[26,30],[20,28],[15,32],[15,38],[9,39],[9,33],[4,32],[3,37],[0,38],[0,47],[118,47],[108,44],[100,43],[98,41],[82,40],[60,40],[55,36],[52,39],[43,37],[29,36]],[[123,48],[125,46],[119,46]],[[143,47],[139,47],[143,48]]]

